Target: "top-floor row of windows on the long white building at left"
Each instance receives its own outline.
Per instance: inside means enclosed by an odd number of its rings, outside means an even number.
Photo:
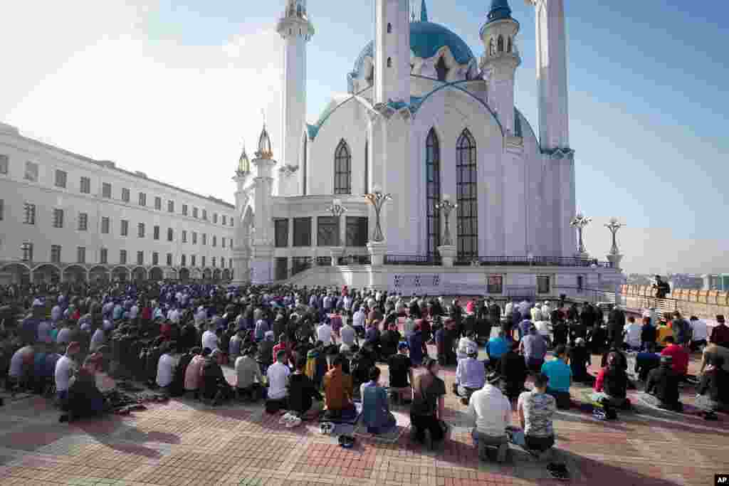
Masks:
[[[4,154],[0,154],[0,174],[7,174],[8,173],[8,165],[9,165],[9,157]],[[38,181],[38,164],[36,162],[26,162],[26,171],[24,173],[23,179],[26,181],[31,182],[37,182]],[[54,184],[55,187],[60,187],[61,189],[66,189],[68,185],[68,179],[69,174],[66,171],[61,171],[60,169],[55,170],[55,179]],[[79,181],[79,191],[82,194],[91,194],[91,179],[86,176],[82,176]],[[101,197],[106,197],[107,199],[112,198],[112,184],[109,182],[102,182],[101,183]],[[147,194],[144,192],[139,192],[138,195],[138,203],[140,206],[147,206]],[[125,203],[129,203],[131,198],[131,191],[127,187],[122,187],[121,192],[121,199]],[[155,209],[157,211],[162,211],[162,197],[156,196],[154,201]],[[188,216],[188,205],[183,204],[182,205],[182,216]],[[173,200],[167,201],[167,211],[168,213],[174,213],[175,212],[175,203]],[[192,217],[198,218],[200,216],[203,220],[208,220],[208,211],[206,209],[199,209],[197,207],[192,208]],[[223,226],[233,226],[233,217],[227,216],[227,214],[221,214],[213,213],[212,215],[213,224],[218,224],[218,220],[221,222]]]

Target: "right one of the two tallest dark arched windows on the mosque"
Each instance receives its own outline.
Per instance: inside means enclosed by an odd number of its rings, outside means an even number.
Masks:
[[[458,256],[478,256],[478,197],[476,177],[476,142],[468,128],[456,144],[456,191],[458,192]]]

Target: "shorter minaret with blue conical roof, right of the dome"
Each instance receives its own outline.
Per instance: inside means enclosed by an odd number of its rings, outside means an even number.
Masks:
[[[488,79],[488,105],[491,106],[504,130],[514,130],[514,77],[521,58],[516,47],[519,23],[511,17],[507,0],[492,0],[486,23],[480,36],[486,54],[481,69]]]

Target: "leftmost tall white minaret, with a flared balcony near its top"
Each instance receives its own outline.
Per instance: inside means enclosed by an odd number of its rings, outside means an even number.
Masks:
[[[314,28],[306,0],[286,0],[276,31],[284,39],[284,74],[281,79],[281,165],[299,165],[306,123],[306,43]]]

